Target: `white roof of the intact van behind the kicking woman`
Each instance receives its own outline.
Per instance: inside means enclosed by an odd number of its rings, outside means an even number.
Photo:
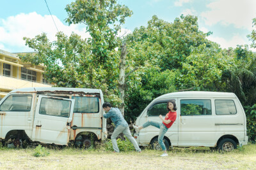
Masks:
[[[173,92],[169,94],[164,94],[162,96],[157,97],[156,99],[166,99],[166,98],[205,98],[205,97],[236,97],[234,93],[229,92],[201,92],[201,91],[187,91],[187,92]]]

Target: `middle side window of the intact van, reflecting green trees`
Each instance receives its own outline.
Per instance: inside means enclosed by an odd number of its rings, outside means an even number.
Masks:
[[[211,100],[180,100],[180,115],[212,115]]]

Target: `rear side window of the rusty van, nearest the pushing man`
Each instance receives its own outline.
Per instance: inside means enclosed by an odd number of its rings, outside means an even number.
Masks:
[[[75,99],[74,113],[99,113],[98,97],[73,96]]]

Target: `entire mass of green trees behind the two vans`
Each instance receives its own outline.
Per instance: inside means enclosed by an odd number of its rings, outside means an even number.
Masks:
[[[95,0],[67,5],[68,24],[83,23],[91,38],[45,33],[24,38],[35,55],[20,55],[32,64],[44,64],[44,76],[57,87],[102,89],[106,101],[120,106],[118,76],[122,44],[127,45],[125,119],[135,120],[154,98],[179,90],[234,92],[244,106],[249,138],[255,140],[256,54],[248,46],[221,49],[198,29],[198,19],[181,15],[172,23],[156,15],[131,34],[117,36],[132,11],[116,0]],[[256,18],[252,21],[256,26]],[[248,35],[255,48],[255,30]],[[131,73],[131,74],[130,74]]]

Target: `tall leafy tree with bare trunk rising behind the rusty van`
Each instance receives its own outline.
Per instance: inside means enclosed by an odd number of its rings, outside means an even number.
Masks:
[[[58,40],[52,43],[45,34],[33,39],[24,38],[36,55],[20,58],[47,66],[45,76],[57,86],[102,89],[114,105],[121,103],[120,109],[124,114],[125,83],[137,67],[126,66],[126,45],[121,46],[122,39],[117,34],[132,11],[117,4],[116,0],[76,0],[65,10],[68,13],[66,22],[85,24],[91,37],[81,39],[72,34],[77,39],[74,42],[72,39],[65,41],[69,38],[59,32],[61,36],[57,34]],[[79,48],[72,46],[75,42]],[[115,50],[120,46],[122,49]],[[66,73],[65,76],[61,76],[63,73]],[[119,88],[116,89],[116,86]]]

